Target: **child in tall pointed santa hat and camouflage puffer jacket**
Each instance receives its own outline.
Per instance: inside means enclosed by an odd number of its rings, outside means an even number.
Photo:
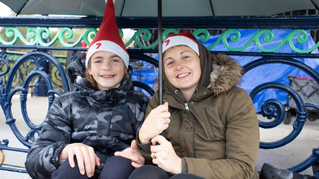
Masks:
[[[83,54],[68,67],[78,91],[54,100],[27,154],[32,178],[126,179],[134,167],[144,165],[134,139],[149,99],[134,90],[131,74],[114,5],[108,1],[86,58]],[[114,156],[115,151],[128,152],[131,160]]]

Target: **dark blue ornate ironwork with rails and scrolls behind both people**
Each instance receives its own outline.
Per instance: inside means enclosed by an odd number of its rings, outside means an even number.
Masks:
[[[45,19],[44,19],[45,18]],[[14,27],[70,27],[70,28],[87,28],[93,27],[96,28],[100,25],[102,18],[92,18],[92,17],[18,17],[18,18],[1,18],[0,26],[14,26]],[[238,23],[241,22],[241,23]],[[117,24],[119,28],[157,28],[157,18],[117,18]],[[319,17],[317,16],[290,16],[290,17],[168,17],[163,18],[163,27],[164,28],[214,28],[214,29],[319,29]],[[53,88],[53,83],[50,82],[50,78],[46,73],[43,72],[41,68],[41,62],[50,61],[50,63],[56,66],[57,73],[56,77],[63,80],[64,92],[70,91],[69,84],[66,81],[66,75],[59,65],[56,59],[48,54],[48,50],[69,50],[73,51],[72,60],[77,57],[78,51],[86,51],[87,48],[84,47],[41,47],[41,46],[21,46],[21,45],[0,45],[2,49],[0,55],[0,66],[7,66],[4,71],[0,71],[0,104],[3,108],[3,111],[6,116],[6,124],[10,125],[11,130],[16,135],[16,137],[23,143],[25,146],[30,147],[31,142],[34,140],[34,134],[39,133],[41,125],[34,125],[26,113],[26,100],[27,100],[27,88],[31,79],[34,76],[41,75],[48,86],[48,96],[49,96],[49,107],[54,100],[54,94],[61,95],[62,92]],[[9,73],[11,67],[8,60],[6,60],[6,49],[7,48],[16,48],[16,49],[34,49],[36,51],[30,52],[23,57],[21,57],[14,67],[12,68],[10,74],[8,75],[7,80],[4,80],[4,76]],[[157,53],[155,49],[128,49],[131,59],[147,61],[150,64],[158,67],[158,61],[152,57],[145,55],[144,53]],[[244,66],[246,72],[252,68],[256,68],[260,65],[269,64],[269,63],[283,63],[288,64],[293,67],[299,68],[310,75],[319,83],[319,74],[313,68],[297,61],[293,58],[319,58],[319,54],[299,54],[299,53],[266,53],[266,52],[222,52],[222,51],[211,51],[215,54],[225,53],[228,55],[238,55],[238,56],[259,56],[261,59],[250,62]],[[14,74],[16,74],[26,61],[34,61],[35,67],[28,71],[27,77],[24,80],[24,83],[21,87],[15,88],[12,90],[12,81],[14,79]],[[54,61],[54,62],[53,62]],[[59,74],[58,74],[59,73]],[[61,77],[60,77],[61,76]],[[4,85],[5,84],[5,85]],[[147,85],[140,82],[133,82],[134,86],[145,89],[148,93],[153,94],[154,91]],[[276,142],[261,142],[260,148],[276,148],[281,147],[293,139],[300,133],[303,128],[304,122],[306,121],[306,110],[305,107],[313,107],[319,110],[319,106],[315,104],[304,104],[300,96],[296,91],[286,84],[277,83],[277,82],[268,82],[257,86],[250,93],[252,99],[256,95],[265,89],[275,88],[287,92],[292,99],[297,104],[297,119],[293,124],[293,131],[286,136],[284,139],[278,140]],[[12,90],[12,91],[10,91]],[[20,103],[23,117],[26,121],[26,124],[30,128],[30,131],[26,136],[22,136],[17,127],[15,126],[15,119],[11,114],[11,98],[12,96],[20,92]],[[262,114],[263,116],[275,120],[271,122],[259,121],[260,127],[271,128],[278,126],[285,116],[284,105],[276,99],[268,99],[262,104]],[[0,149],[4,150],[13,150],[20,152],[27,152],[26,149],[20,149],[15,147],[8,147],[8,140],[3,140],[0,142]],[[319,160],[318,148],[313,149],[312,154],[300,164],[289,168],[289,170],[294,172],[300,172],[306,168],[313,165]],[[309,151],[310,153],[310,151]],[[9,170],[9,171],[19,171],[26,173],[22,168],[10,168],[0,166],[0,170]],[[315,174],[319,178],[319,174]]]

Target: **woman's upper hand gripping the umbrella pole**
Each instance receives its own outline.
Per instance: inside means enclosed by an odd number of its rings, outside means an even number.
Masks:
[[[153,137],[167,129],[170,123],[169,117],[171,114],[168,112],[168,103],[154,108],[145,119],[141,129],[139,130],[138,138],[141,144],[148,143]],[[167,124],[165,121],[167,120]]]

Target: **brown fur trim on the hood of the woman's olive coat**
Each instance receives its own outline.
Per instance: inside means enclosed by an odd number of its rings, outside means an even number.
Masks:
[[[211,54],[211,60],[213,70],[207,88],[211,88],[215,96],[226,93],[241,83],[244,68],[235,59],[226,54]],[[158,78],[153,88],[158,90]]]

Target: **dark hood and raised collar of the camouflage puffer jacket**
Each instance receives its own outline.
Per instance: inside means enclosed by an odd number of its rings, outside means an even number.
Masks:
[[[129,91],[134,91],[131,79],[133,70],[130,65],[126,79],[121,82],[118,88],[100,90],[84,77],[85,59],[85,54],[81,54],[70,63],[67,73],[70,83],[86,96],[90,105],[114,104],[119,102]]]

